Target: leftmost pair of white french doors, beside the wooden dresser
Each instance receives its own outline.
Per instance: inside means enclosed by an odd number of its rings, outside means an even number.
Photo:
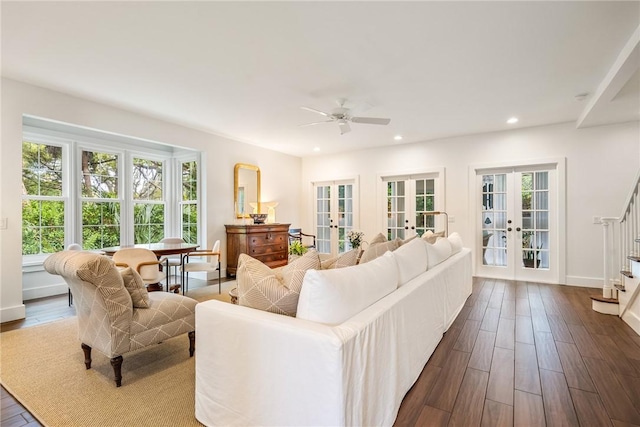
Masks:
[[[351,250],[347,233],[357,216],[355,182],[314,183],[314,190],[317,251],[337,256]]]

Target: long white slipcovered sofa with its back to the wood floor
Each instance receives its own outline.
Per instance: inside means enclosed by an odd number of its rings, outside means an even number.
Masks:
[[[296,318],[198,304],[196,418],[208,426],[392,425],[471,294],[470,250],[448,256],[456,245],[441,241],[415,239],[365,264],[309,270]]]

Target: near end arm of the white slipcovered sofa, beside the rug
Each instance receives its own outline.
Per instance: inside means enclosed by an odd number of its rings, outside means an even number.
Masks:
[[[343,425],[343,342],[329,326],[196,306],[196,418],[206,425]]]

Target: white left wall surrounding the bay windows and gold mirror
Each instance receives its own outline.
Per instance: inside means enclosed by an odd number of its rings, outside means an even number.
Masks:
[[[249,163],[260,167],[262,200],[280,202],[277,220],[300,221],[301,160],[228,138],[152,119],[118,108],[65,95],[39,87],[2,79],[2,141],[0,149],[0,218],[8,228],[0,230],[0,321],[25,316],[21,256],[21,165],[22,116],[34,115],[93,129],[144,138],[151,141],[203,151],[206,172],[206,228],[204,245],[221,240],[224,254],[224,224],[233,215],[233,167]],[[226,257],[222,257],[223,266]],[[48,287],[48,286],[47,286]],[[52,288],[53,289],[53,288]],[[58,286],[57,291],[66,286]],[[30,289],[31,295],[44,295],[46,289]]]

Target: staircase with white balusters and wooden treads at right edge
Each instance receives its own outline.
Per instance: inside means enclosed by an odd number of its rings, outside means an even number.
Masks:
[[[603,217],[604,286],[595,311],[620,316],[640,334],[640,171],[619,217]]]

